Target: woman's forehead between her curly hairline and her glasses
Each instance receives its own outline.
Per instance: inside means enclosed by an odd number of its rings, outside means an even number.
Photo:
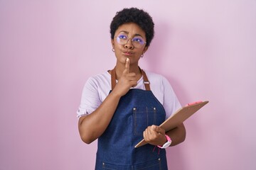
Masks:
[[[129,36],[141,35],[146,37],[146,33],[136,23],[124,23],[117,28],[115,34],[127,33]]]

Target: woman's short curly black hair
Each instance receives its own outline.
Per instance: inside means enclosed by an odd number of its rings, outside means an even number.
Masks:
[[[136,23],[146,33],[146,46],[150,45],[154,38],[154,22],[149,13],[139,8],[124,8],[118,11],[110,24],[110,34],[112,40],[114,33],[124,23]]]

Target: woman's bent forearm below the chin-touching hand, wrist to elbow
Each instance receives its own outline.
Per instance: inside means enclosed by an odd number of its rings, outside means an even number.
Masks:
[[[99,108],[90,113],[90,115],[82,116],[79,119],[78,129],[83,142],[89,144],[105,132],[114,115],[120,97],[121,96],[112,91]]]

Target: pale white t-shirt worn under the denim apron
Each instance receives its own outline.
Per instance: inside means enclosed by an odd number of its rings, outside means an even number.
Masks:
[[[174,90],[169,84],[169,81],[153,72],[144,70],[146,76],[149,79],[149,86],[158,101],[164,106],[166,111],[166,118],[181,108],[181,104],[174,93]],[[145,90],[143,77],[137,82],[137,86],[134,89]],[[82,99],[78,108],[78,118],[82,115],[87,115],[95,111],[100,104],[105,100],[111,90],[111,75],[109,72],[98,74],[94,77],[90,77],[82,90]]]

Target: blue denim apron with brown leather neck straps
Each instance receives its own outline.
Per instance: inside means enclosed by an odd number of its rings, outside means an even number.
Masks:
[[[146,90],[130,89],[120,98],[117,109],[105,132],[98,138],[96,170],[159,170],[168,169],[166,151],[154,152],[154,145],[134,148],[143,139],[149,125],[160,125],[166,113],[150,91],[149,81],[142,70]],[[112,70],[112,89],[116,84]],[[110,91],[111,92],[111,91]]]

